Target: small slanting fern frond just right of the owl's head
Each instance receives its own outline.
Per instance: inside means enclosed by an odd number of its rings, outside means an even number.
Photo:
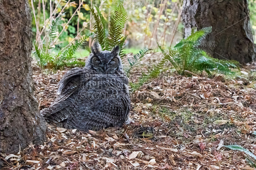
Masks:
[[[146,54],[148,54],[151,50],[152,50],[152,49],[148,49],[148,48],[145,47],[144,49],[141,49],[141,50],[139,51],[139,53],[133,55],[133,58],[132,58],[132,59],[129,59],[129,58],[128,58],[128,62],[129,62],[129,64],[130,64],[130,66],[127,67],[127,68],[125,68],[125,73],[126,73],[126,75],[127,75],[128,77],[129,77],[129,75],[130,75],[131,70],[132,70],[134,67],[137,67],[137,66],[140,64],[140,62],[143,60],[144,56],[145,56]]]

